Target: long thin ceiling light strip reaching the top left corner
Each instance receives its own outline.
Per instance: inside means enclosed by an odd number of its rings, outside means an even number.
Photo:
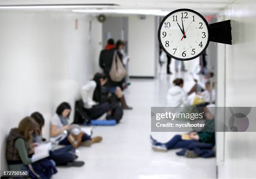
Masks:
[[[61,8],[104,8],[119,6],[117,4],[31,4],[0,5],[0,9],[61,9]]]

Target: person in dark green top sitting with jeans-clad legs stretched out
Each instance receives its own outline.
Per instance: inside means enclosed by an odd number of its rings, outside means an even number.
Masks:
[[[205,128],[200,132],[189,133],[188,139],[182,138],[182,135],[175,135],[170,141],[161,143],[150,136],[152,149],[154,151],[167,151],[170,149],[185,148],[195,142],[215,144],[214,117],[207,107],[204,107],[204,115],[206,118]],[[187,135],[186,135],[187,136]]]

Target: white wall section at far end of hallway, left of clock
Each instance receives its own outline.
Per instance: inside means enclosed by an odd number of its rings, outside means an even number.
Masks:
[[[155,76],[157,30],[156,18],[146,16],[139,19],[138,15],[128,18],[128,55],[129,76]],[[157,51],[158,52],[158,51]]]

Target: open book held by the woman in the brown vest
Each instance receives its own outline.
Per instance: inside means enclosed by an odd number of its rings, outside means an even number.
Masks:
[[[49,151],[51,150],[51,142],[40,144],[34,149],[34,154],[32,156],[32,162],[44,159],[49,156]]]

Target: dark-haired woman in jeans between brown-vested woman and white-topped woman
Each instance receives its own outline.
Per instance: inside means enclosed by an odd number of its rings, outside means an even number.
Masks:
[[[42,137],[42,128],[44,126],[44,116],[39,112],[34,112],[31,117],[38,123],[39,130],[34,132],[33,142],[37,144],[44,143],[45,139]],[[83,166],[84,161],[76,161],[76,149],[72,145],[63,146],[60,149],[50,151],[49,159],[52,159],[56,166]]]

